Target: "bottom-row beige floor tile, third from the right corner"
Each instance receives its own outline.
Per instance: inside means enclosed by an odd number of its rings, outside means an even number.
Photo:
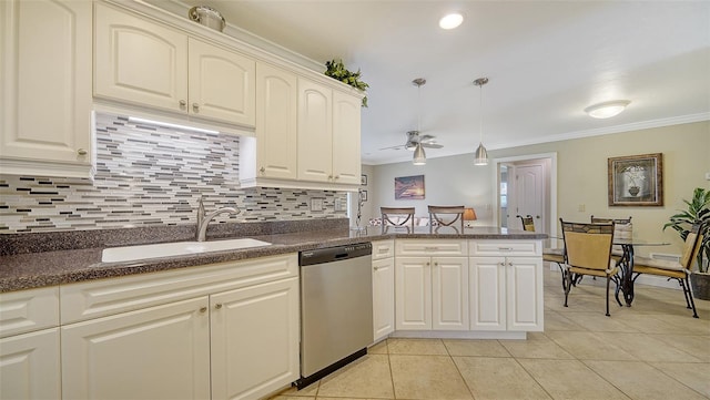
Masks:
[[[581,361],[534,359],[518,359],[518,361],[554,399],[628,399]]]

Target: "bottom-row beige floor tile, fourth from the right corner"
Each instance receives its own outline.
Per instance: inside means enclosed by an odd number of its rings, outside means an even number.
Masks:
[[[550,399],[513,358],[454,357],[476,400]]]

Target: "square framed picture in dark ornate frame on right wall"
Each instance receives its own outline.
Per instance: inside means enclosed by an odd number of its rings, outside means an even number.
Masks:
[[[663,154],[608,158],[609,206],[662,206]]]

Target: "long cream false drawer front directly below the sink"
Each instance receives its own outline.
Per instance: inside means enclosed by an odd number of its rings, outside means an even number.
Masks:
[[[65,285],[61,287],[61,322],[65,325],[297,276],[298,257],[288,254]]]

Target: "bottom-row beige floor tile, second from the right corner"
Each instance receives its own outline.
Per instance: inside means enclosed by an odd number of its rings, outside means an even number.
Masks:
[[[703,396],[641,361],[585,361],[631,399],[704,399]]]

